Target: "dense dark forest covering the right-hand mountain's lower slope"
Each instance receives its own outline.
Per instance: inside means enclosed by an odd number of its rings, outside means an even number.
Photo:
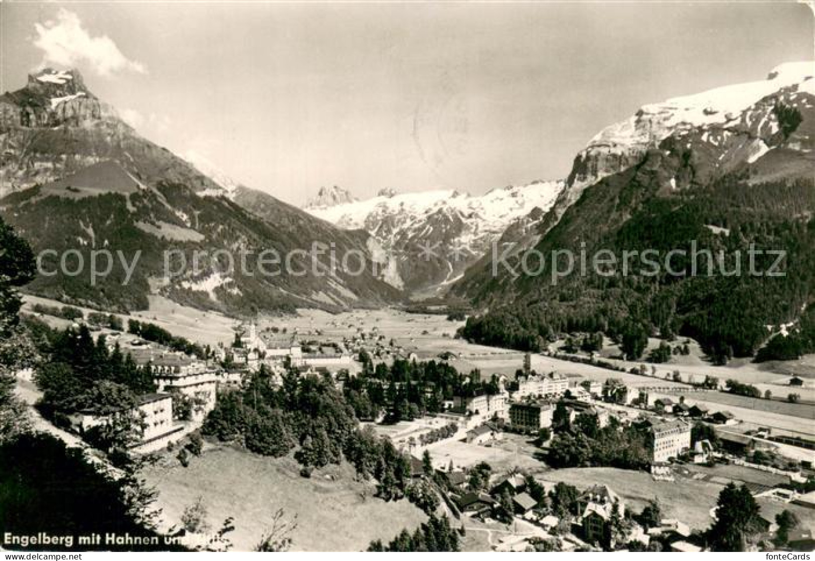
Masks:
[[[553,265],[545,262],[540,276],[477,277],[480,282],[471,285],[478,287],[476,299],[491,309],[469,317],[460,335],[539,351],[560,334],[601,331],[622,338],[636,324],[651,336],[695,338],[717,364],[754,356],[768,339],[766,326],[797,320],[815,295],[815,223],[806,219],[815,210],[815,181],[748,187],[745,177],[727,175],[709,186],[656,197],[666,173],[644,163],[603,179],[566,211],[536,250],[544,256],[553,250],[579,254],[581,247],[588,255],[610,250],[618,256],[624,250],[647,248],[663,256],[681,250],[684,256],[672,260],[677,274],[664,269],[652,274],[640,254],[627,275],[620,267],[615,275],[588,267],[585,275],[553,284]],[[778,265],[782,276],[747,274],[751,248],[786,251]],[[754,270],[774,271],[777,258],[756,254]],[[738,267],[742,274],[731,274]],[[496,297],[499,292],[502,298]],[[808,316],[800,334],[774,338],[760,360],[811,348]]]

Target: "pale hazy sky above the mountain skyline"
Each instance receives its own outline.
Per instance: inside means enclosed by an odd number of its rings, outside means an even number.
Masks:
[[[143,135],[300,204],[565,177],[642,104],[813,59],[779,2],[0,4],[2,91],[75,66]]]

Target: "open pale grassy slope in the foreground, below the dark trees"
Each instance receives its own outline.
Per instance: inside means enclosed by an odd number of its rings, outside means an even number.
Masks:
[[[292,550],[298,551],[365,550],[372,540],[390,541],[402,528],[416,528],[425,520],[406,500],[373,497],[372,485],[355,481],[347,465],[329,466],[305,479],[290,458],[223,446],[208,446],[187,468],[165,463],[170,465],[145,472],[148,484],[159,491],[164,522],[178,523],[184,508],[202,497],[213,528],[227,516],[235,517],[236,530],[229,537],[236,551],[253,550],[280,508],[287,518],[297,515],[291,537]]]

